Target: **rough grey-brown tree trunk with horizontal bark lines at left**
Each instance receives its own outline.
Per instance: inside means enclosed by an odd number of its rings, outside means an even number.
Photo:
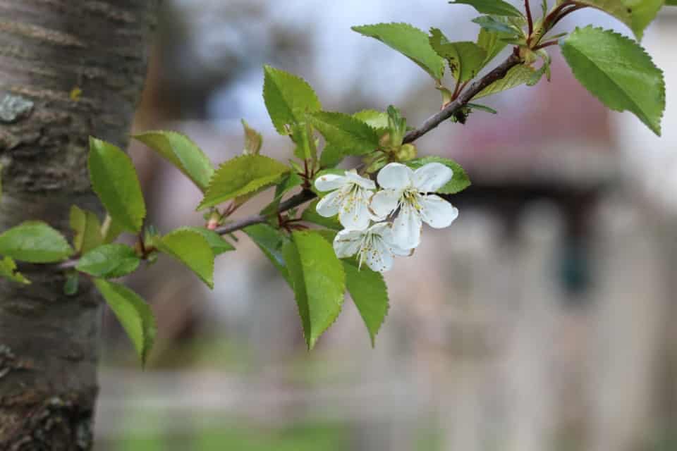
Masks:
[[[39,219],[70,235],[71,204],[100,211],[87,137],[126,147],[158,1],[0,0],[0,230]],[[0,281],[0,449],[90,450],[99,296],[22,270],[32,285]]]

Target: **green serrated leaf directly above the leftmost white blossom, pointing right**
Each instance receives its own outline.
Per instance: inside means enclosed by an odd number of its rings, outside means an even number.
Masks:
[[[365,155],[379,147],[379,135],[366,123],[343,113],[319,111],[309,116],[333,147],[346,155]]]

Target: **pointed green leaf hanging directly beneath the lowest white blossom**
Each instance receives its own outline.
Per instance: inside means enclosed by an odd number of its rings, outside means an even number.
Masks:
[[[346,287],[350,297],[358,307],[362,321],[365,321],[374,346],[376,334],[388,314],[388,288],[383,275],[370,268],[358,269],[348,260],[343,260],[343,270],[346,271]]]

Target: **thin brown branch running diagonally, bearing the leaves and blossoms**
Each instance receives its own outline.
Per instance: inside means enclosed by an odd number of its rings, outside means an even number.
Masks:
[[[522,63],[522,60],[518,56],[517,52],[516,51],[513,52],[513,54],[511,54],[511,56],[509,56],[506,59],[506,61],[501,63],[491,72],[487,73],[487,75],[484,75],[484,77],[480,78],[480,80],[477,80],[476,82],[472,83],[472,85],[470,85],[468,89],[465,89],[463,92],[461,92],[461,94],[456,98],[456,100],[452,101],[439,113],[435,114],[434,116],[430,116],[427,119],[427,121],[425,121],[423,125],[420,126],[420,128],[408,132],[403,139],[403,144],[413,142],[418,138],[422,137],[423,135],[425,135],[430,130],[437,128],[438,125],[440,125],[447,119],[451,118],[451,116],[453,116],[454,113],[456,113],[458,110],[463,108],[463,106],[468,104],[468,102],[472,100],[472,97],[475,97],[477,94],[482,92],[482,89],[491,85],[493,82],[501,80],[501,78],[504,78],[508,73],[508,70],[511,70],[511,68],[517,66],[520,63]],[[279,205],[278,212],[283,213],[284,211],[291,210],[296,206],[303,205],[305,204],[305,202],[315,199],[315,197],[317,197],[317,194],[315,194],[314,192],[310,190],[303,190],[302,192],[290,197],[286,201],[281,202],[281,204]],[[267,222],[267,220],[268,219],[266,216],[257,214],[254,216],[250,216],[248,218],[240,219],[238,221],[226,223],[224,226],[216,228],[214,232],[218,233],[219,235],[228,235],[228,233],[233,233],[238,230],[242,230],[243,228],[253,226],[255,224],[265,223]],[[61,270],[68,270],[75,268],[75,265],[77,264],[78,264],[77,259],[71,259],[61,262],[61,264],[59,264],[57,268]]]

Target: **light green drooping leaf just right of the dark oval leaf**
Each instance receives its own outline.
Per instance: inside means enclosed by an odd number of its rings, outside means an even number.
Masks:
[[[161,237],[156,244],[161,252],[181,261],[209,288],[214,288],[214,251],[202,233],[178,228]]]

